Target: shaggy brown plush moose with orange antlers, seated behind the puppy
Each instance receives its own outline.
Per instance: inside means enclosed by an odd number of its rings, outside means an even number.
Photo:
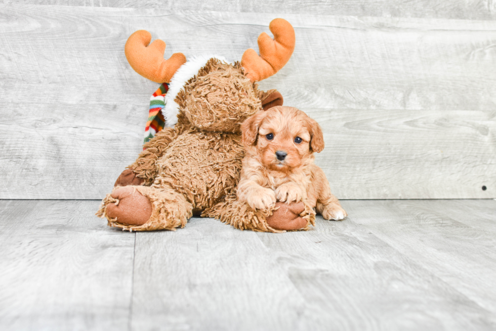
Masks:
[[[239,229],[282,232],[307,229],[315,212],[304,203],[280,203],[252,210],[237,201],[241,123],[257,111],[282,105],[275,90],[259,91],[256,81],[275,74],[290,59],[295,32],[275,19],[258,38],[260,56],[249,49],[241,63],[181,53],[163,59],[165,44],[144,30],[126,43],[131,66],[156,82],[170,82],[163,117],[167,125],[145,143],[138,159],[123,171],[97,215],[110,226],[130,231],[184,227],[192,215],[216,217]]]

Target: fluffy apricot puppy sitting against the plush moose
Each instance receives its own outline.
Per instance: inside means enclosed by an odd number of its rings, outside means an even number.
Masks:
[[[324,172],[313,162],[313,153],[324,149],[315,120],[296,108],[276,106],[247,118],[241,130],[246,156],[238,200],[253,209],[270,208],[276,201],[304,201],[326,220],[347,216],[330,193]]]

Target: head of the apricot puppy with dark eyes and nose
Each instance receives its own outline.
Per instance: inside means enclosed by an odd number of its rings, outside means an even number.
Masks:
[[[270,170],[290,172],[324,149],[318,123],[293,107],[261,110],[247,118],[241,130],[247,151]]]

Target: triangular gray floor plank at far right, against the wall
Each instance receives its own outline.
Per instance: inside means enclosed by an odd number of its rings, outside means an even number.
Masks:
[[[496,237],[490,229],[496,224],[495,201],[382,203],[386,208],[381,208],[381,202],[362,201],[357,212],[351,212],[361,220],[361,226],[457,288],[461,296],[484,310],[496,310],[496,279],[493,275]],[[390,208],[392,206],[394,208]],[[364,213],[366,209],[380,212]],[[387,220],[395,220],[395,226],[392,227]],[[420,242],[422,247],[414,249]],[[476,250],[473,250],[474,245]],[[483,291],[479,289],[486,285],[488,288]]]

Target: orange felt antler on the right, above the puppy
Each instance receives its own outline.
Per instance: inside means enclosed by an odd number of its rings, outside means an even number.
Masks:
[[[258,37],[260,56],[253,49],[248,49],[241,57],[241,66],[246,76],[252,81],[268,78],[279,71],[290,59],[295,50],[295,30],[282,18],[276,18],[269,24],[274,34],[272,39],[262,32]]]

